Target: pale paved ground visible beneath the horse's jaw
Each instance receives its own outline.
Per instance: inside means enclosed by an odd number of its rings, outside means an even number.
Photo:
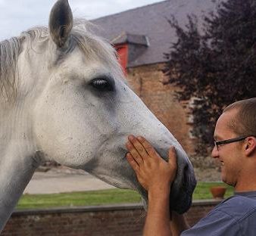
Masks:
[[[58,194],[114,188],[82,170],[58,167],[47,172],[37,171],[24,194]]]

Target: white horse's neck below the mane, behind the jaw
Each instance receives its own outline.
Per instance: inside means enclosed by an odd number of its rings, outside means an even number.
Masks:
[[[29,118],[19,102],[0,115],[0,231],[41,162]]]

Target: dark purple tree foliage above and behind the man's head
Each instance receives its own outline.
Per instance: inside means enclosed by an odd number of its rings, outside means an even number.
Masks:
[[[170,18],[177,41],[165,54],[164,73],[180,87],[179,101],[194,101],[192,132],[197,153],[205,156],[223,107],[256,97],[256,0],[221,2],[202,21],[198,27],[189,16],[183,28]]]

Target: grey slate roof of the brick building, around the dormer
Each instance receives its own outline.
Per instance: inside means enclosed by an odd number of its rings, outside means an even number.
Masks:
[[[98,34],[110,42],[146,41],[147,50],[128,63],[128,67],[137,67],[166,61],[164,52],[170,51],[170,43],[176,41],[175,30],[167,22],[171,14],[182,26],[188,22],[188,14],[195,14],[199,17],[200,24],[201,15],[214,11],[218,1],[220,0],[215,0],[215,3],[212,0],[167,0],[101,17],[92,22],[99,26]],[[115,39],[120,41],[115,42]]]

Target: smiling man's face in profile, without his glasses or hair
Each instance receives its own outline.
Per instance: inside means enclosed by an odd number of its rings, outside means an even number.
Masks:
[[[214,130],[215,141],[238,136],[228,127],[228,123],[236,116],[236,113],[236,110],[228,110],[220,116]],[[243,169],[242,141],[222,144],[218,148],[214,147],[211,155],[220,160],[223,182],[236,187]]]

